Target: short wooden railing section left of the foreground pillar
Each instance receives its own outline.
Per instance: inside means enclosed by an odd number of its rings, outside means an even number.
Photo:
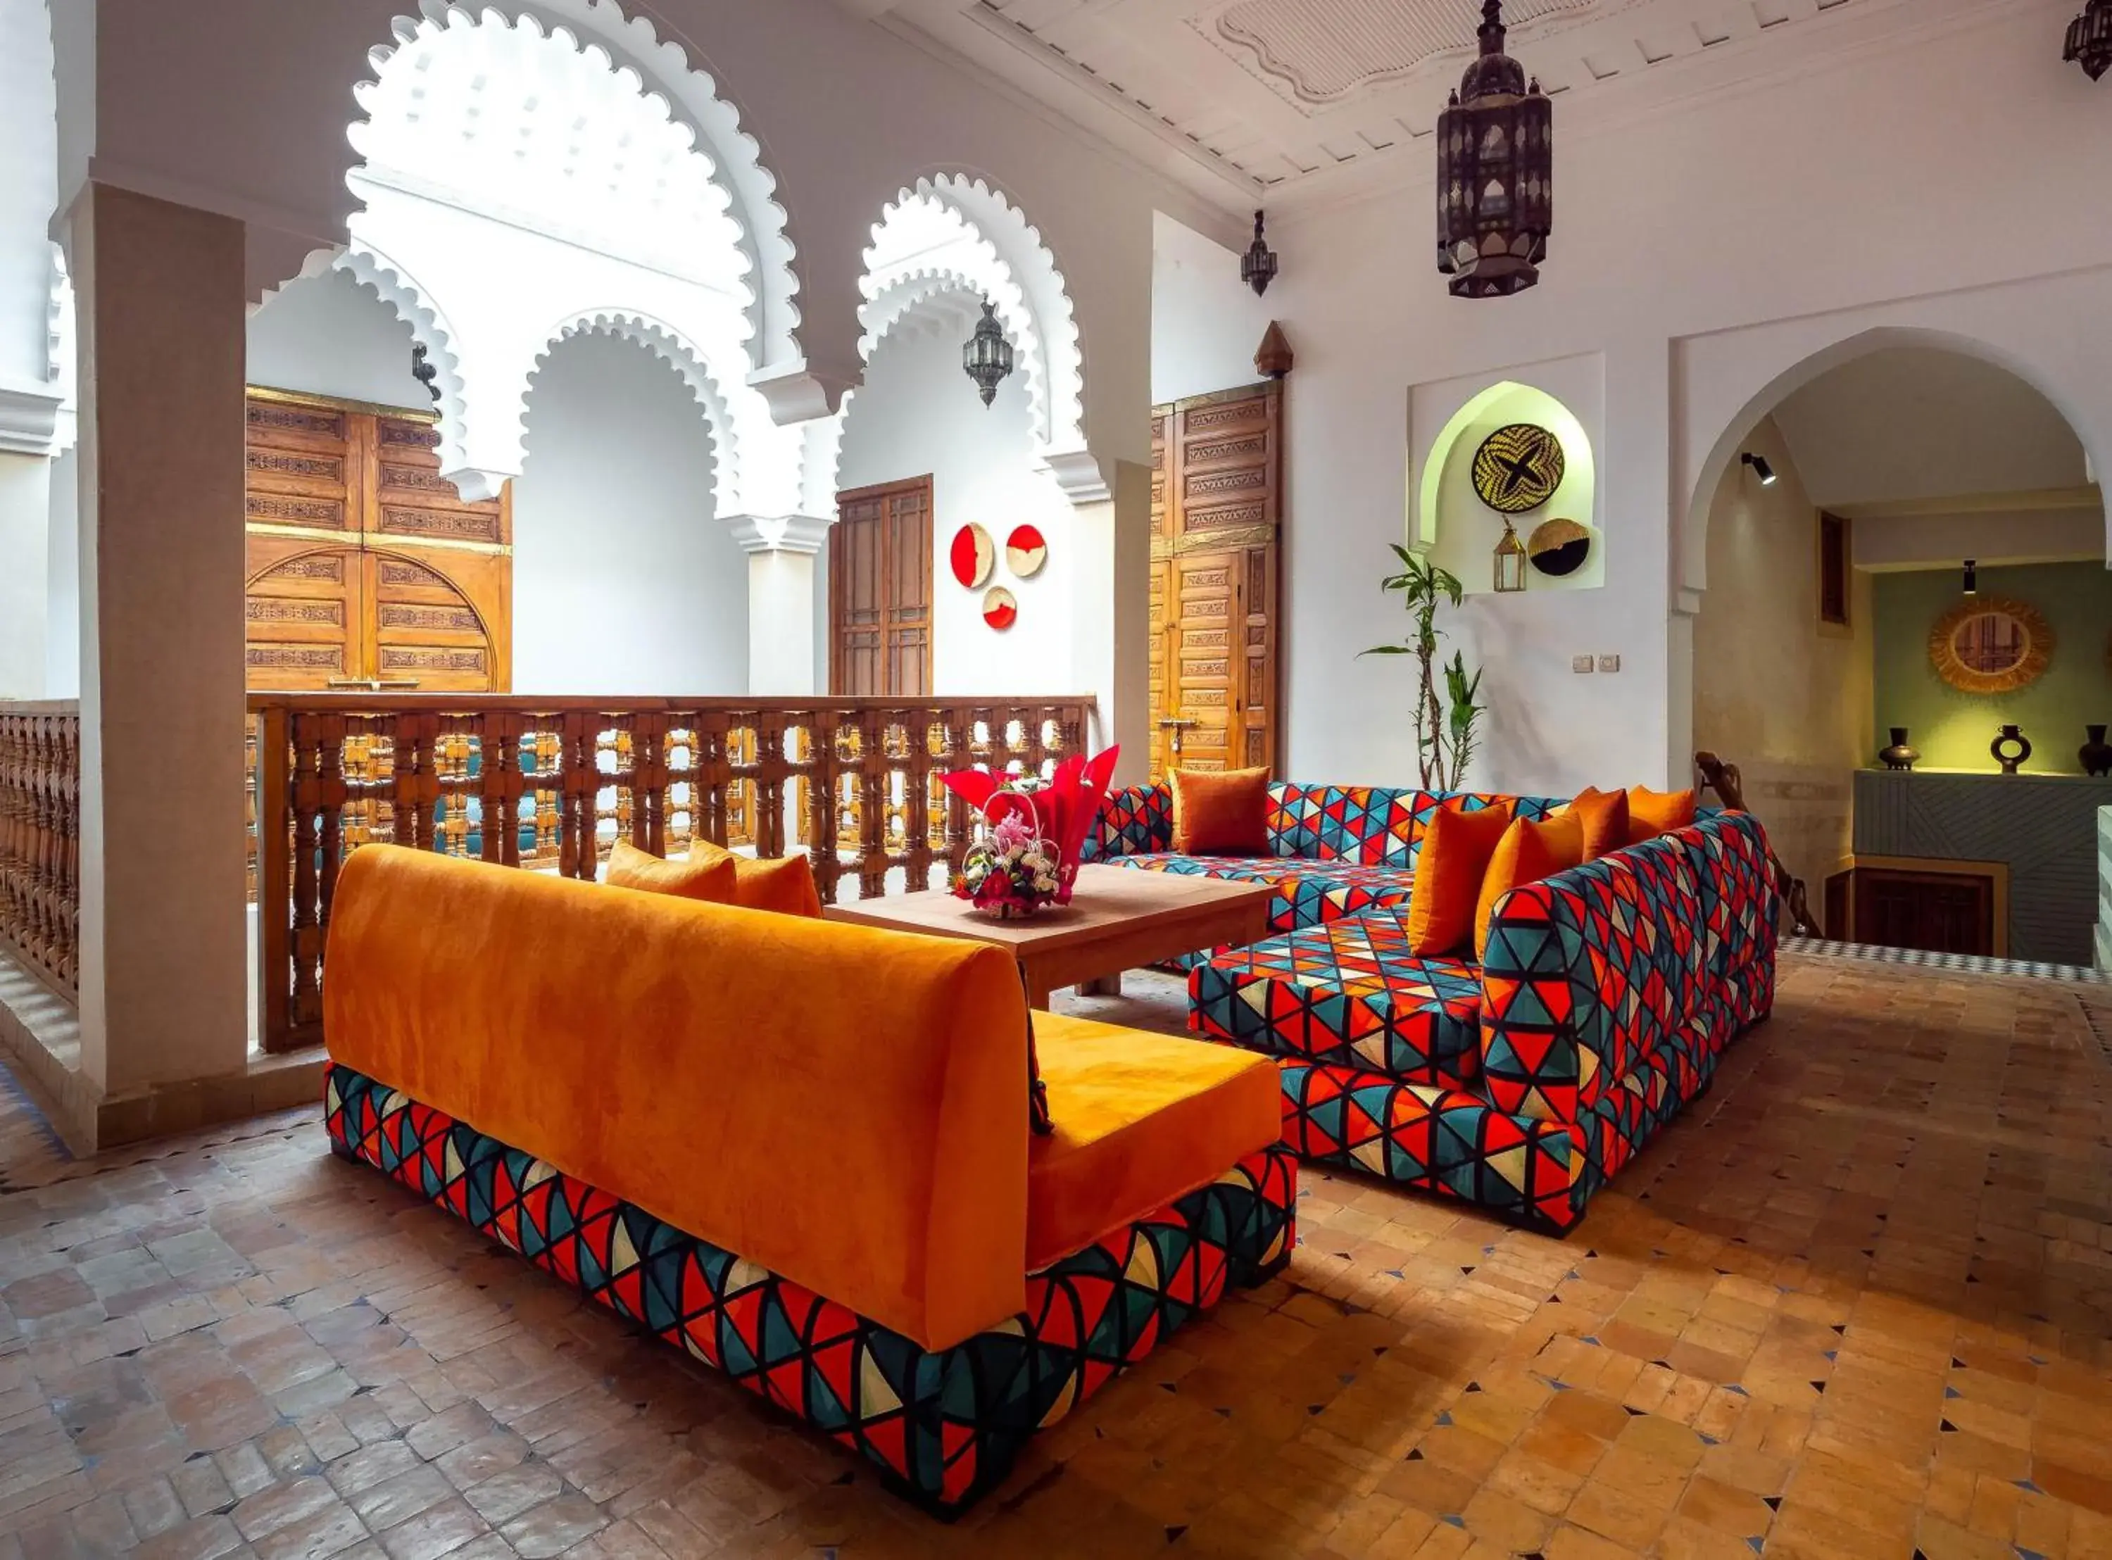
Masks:
[[[80,986],[80,705],[0,703],[0,941]]]

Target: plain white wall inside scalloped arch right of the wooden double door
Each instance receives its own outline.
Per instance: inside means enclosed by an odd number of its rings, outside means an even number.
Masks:
[[[562,342],[528,397],[513,686],[748,692],[748,555],[712,509],[703,414],[636,342]]]

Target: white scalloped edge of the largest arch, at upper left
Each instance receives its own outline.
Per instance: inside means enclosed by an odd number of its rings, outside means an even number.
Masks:
[[[665,110],[670,122],[691,133],[695,150],[712,163],[712,182],[727,196],[727,215],[739,228],[739,245],[750,262],[746,312],[754,369],[796,365],[796,245],[790,213],[777,201],[777,179],[762,165],[760,144],[741,129],[739,110],[720,95],[718,82],[644,17],[627,17],[615,0],[490,0],[475,13],[450,0],[422,0],[420,15],[397,19],[397,42],[372,51],[376,80],[355,89],[361,106],[372,99],[389,59],[403,44],[433,30],[492,21],[528,27],[583,55],[591,51],[598,63],[606,59],[608,70],[627,72],[636,89]]]

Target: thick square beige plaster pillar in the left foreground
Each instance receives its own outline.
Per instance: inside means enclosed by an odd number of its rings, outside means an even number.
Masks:
[[[80,285],[80,1066],[241,1074],[243,224],[89,184]]]

